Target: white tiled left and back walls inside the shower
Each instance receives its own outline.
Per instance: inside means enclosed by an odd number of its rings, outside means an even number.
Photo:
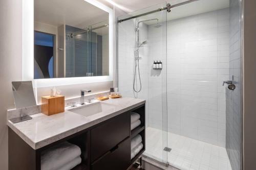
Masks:
[[[140,51],[138,95],[147,100],[147,125],[225,147],[222,81],[229,72],[229,9],[167,21],[167,31],[154,26],[140,28],[140,40],[148,40]],[[119,91],[133,97],[135,20],[119,23],[118,29]],[[157,60],[162,70],[152,69]]]

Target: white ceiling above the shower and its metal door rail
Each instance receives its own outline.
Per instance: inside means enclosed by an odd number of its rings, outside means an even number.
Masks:
[[[167,3],[170,3],[170,5],[175,5],[185,1],[187,0],[171,0],[171,1],[167,1]],[[159,0],[130,0],[128,2],[124,0],[114,0],[114,2],[121,6],[124,6],[125,8],[129,8],[132,11],[135,11],[135,12],[129,13],[129,15],[122,16],[121,19],[129,16],[138,15],[144,12],[156,10],[161,7],[165,7],[165,2],[161,3],[162,1],[159,1]],[[158,5],[154,5],[154,4],[158,4]],[[145,7],[148,7],[148,8],[145,8]],[[229,0],[199,0],[183,6],[172,8],[172,11],[167,13],[167,18],[166,18],[165,12],[157,12],[154,14],[142,16],[140,17],[140,19],[144,20],[144,19],[150,19],[150,18],[158,18],[160,21],[164,21],[166,19],[172,20],[172,19],[196,15],[196,14],[205,13],[209,11],[215,11],[215,10],[228,8],[228,7],[229,7]],[[147,22],[146,24],[151,25],[153,23],[156,23],[156,22],[155,21]]]

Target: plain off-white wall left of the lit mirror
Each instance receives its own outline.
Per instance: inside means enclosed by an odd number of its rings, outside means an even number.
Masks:
[[[22,1],[0,1],[0,165],[8,169],[6,109],[13,108],[12,81],[22,80]]]

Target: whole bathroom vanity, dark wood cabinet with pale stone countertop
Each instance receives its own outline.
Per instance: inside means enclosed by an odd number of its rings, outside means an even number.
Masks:
[[[131,112],[141,124],[131,131]],[[9,169],[41,169],[41,152],[69,141],[81,149],[73,169],[127,169],[145,151],[145,101],[132,98],[94,102],[63,113],[17,124],[9,120]],[[143,148],[131,159],[131,139],[140,134]]]

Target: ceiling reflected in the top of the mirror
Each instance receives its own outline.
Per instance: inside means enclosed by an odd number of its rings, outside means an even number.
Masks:
[[[34,0],[34,20],[52,26],[86,28],[109,19],[109,14],[83,0]]]

